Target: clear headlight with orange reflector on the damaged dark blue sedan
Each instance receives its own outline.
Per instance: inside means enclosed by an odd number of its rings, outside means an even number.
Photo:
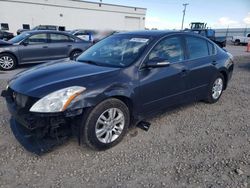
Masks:
[[[80,86],[60,89],[41,98],[30,108],[30,111],[62,112],[66,110],[70,103],[85,90],[85,87]]]

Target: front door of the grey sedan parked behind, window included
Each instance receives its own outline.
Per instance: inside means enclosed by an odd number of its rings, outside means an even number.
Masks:
[[[37,62],[49,59],[47,33],[37,33],[29,36],[19,45],[21,62]]]

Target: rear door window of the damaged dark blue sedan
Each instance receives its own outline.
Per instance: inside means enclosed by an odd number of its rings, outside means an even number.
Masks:
[[[207,41],[198,37],[186,37],[189,58],[196,59],[208,56]]]

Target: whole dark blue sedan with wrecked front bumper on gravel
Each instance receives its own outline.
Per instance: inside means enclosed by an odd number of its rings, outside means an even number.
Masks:
[[[70,62],[31,68],[2,92],[11,129],[31,152],[49,151],[72,135],[108,149],[156,112],[217,102],[234,67],[232,55],[209,39],[166,31],[114,34]]]

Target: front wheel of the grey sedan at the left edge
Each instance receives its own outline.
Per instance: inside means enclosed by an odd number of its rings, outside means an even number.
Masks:
[[[13,70],[17,66],[17,59],[9,53],[0,54],[0,70],[8,71]]]

